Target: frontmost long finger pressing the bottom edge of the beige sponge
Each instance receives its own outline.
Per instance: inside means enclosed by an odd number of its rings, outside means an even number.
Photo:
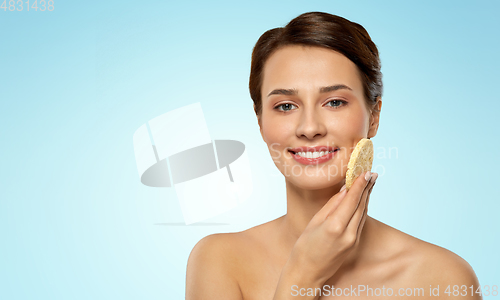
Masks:
[[[362,199],[363,192],[368,187],[370,178],[366,178],[367,174],[368,172],[364,172],[356,178],[356,181],[346,193],[344,201],[331,213],[332,217],[328,218],[328,220],[335,220],[335,227],[340,226],[344,229],[347,227]]]

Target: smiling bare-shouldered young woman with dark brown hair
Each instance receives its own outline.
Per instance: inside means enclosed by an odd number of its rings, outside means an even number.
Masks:
[[[382,107],[378,50],[361,25],[310,12],[265,32],[250,94],[285,176],[287,214],[198,242],[186,299],[436,299],[454,289],[481,299],[465,260],[367,215],[376,173],[342,188],[352,150],[376,135]]]

